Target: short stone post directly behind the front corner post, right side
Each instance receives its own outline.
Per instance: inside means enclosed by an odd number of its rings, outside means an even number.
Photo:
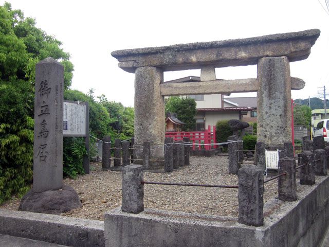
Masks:
[[[286,175],[279,177],[278,181],[279,200],[296,201],[296,162],[294,158],[284,157],[279,159],[279,173],[284,172]]]

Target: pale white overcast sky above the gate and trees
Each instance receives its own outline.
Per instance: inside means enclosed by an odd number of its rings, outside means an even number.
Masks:
[[[0,0],[3,5],[5,1]],[[290,63],[291,76],[303,79],[293,99],[329,93],[329,14],[324,0],[276,1],[72,1],[12,0],[13,9],[35,18],[36,26],[63,42],[75,66],[72,89],[134,105],[134,74],[124,72],[111,52],[192,42],[249,38],[318,28],[321,34],[308,59]],[[323,7],[320,5],[323,5]],[[199,70],[165,72],[165,81],[199,76]],[[257,77],[256,66],[217,68],[220,79]],[[248,94],[250,96],[250,94]],[[232,96],[245,96],[233,94]],[[251,94],[255,96],[255,94]],[[329,98],[329,97],[328,97]]]

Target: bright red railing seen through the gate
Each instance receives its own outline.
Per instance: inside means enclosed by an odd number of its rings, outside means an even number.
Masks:
[[[206,131],[188,131],[188,132],[166,132],[166,137],[172,137],[174,140],[183,140],[184,137],[190,138],[190,142],[193,143],[192,149],[206,149],[216,148],[216,146],[210,146],[209,144],[216,143],[216,126],[211,127],[208,125]],[[205,145],[204,145],[205,144]]]

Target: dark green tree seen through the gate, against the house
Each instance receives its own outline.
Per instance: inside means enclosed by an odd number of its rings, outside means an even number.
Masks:
[[[194,99],[173,96],[166,99],[165,111],[166,114],[176,113],[177,118],[185,122],[182,126],[184,131],[193,131],[195,128],[195,115],[196,115],[196,103]]]

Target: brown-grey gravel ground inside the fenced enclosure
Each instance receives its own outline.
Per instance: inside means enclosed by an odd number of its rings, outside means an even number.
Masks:
[[[144,172],[144,181],[237,185],[237,175],[228,174],[227,156],[191,157],[190,165],[172,173]],[[89,175],[64,179],[72,186],[83,206],[62,215],[104,220],[104,213],[121,205],[121,172],[102,171],[92,163]],[[277,180],[265,184],[264,203],[277,197]],[[20,200],[0,205],[17,210]],[[237,216],[237,189],[144,185],[144,207],[219,216]]]

